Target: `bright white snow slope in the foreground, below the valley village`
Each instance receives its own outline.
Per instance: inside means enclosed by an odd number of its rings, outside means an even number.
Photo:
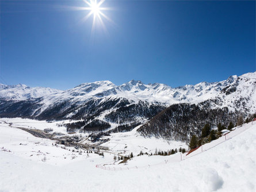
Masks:
[[[113,161],[110,153],[78,155],[1,125],[0,191],[255,191],[256,124],[246,129],[179,162],[108,171],[95,166]],[[163,160],[134,160],[150,158]]]

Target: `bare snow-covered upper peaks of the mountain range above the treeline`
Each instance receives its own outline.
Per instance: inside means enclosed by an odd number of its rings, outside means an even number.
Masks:
[[[238,91],[239,94],[244,92],[244,95],[241,95],[243,97],[246,97],[248,93],[255,96],[255,82],[256,72],[241,76],[233,75],[221,82],[201,82],[196,85],[185,85],[176,88],[162,83],[146,85],[140,80],[131,80],[120,86],[114,85],[109,80],[82,83],[66,91],[45,87],[28,87],[21,84],[12,86],[0,84],[0,98],[21,101],[29,98],[43,97],[47,101],[54,102],[60,98],[86,101],[91,98],[112,97],[126,98],[136,102],[160,102],[171,105],[180,102],[198,103],[206,99],[215,98],[223,94],[223,89],[226,95],[229,95],[232,91]]]

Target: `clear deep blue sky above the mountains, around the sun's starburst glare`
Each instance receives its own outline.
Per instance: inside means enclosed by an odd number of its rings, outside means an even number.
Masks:
[[[1,83],[69,89],[131,79],[171,87],[255,71],[255,1],[1,1]]]

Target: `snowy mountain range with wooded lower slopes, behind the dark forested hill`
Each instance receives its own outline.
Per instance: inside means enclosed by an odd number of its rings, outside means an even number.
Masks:
[[[147,122],[163,109],[178,103],[207,103],[211,109],[227,107],[228,113],[256,112],[256,72],[230,76],[221,82],[170,87],[131,80],[116,86],[112,82],[82,83],[69,90],[25,85],[0,85],[2,117],[39,120],[81,120],[68,128],[84,130],[130,130]],[[206,102],[207,101],[207,102]],[[201,105],[201,104],[200,104]],[[226,109],[226,108],[225,108]]]

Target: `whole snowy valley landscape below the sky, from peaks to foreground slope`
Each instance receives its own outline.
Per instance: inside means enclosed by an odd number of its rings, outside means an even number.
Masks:
[[[256,72],[177,88],[0,85],[0,191],[255,191],[255,90]]]

